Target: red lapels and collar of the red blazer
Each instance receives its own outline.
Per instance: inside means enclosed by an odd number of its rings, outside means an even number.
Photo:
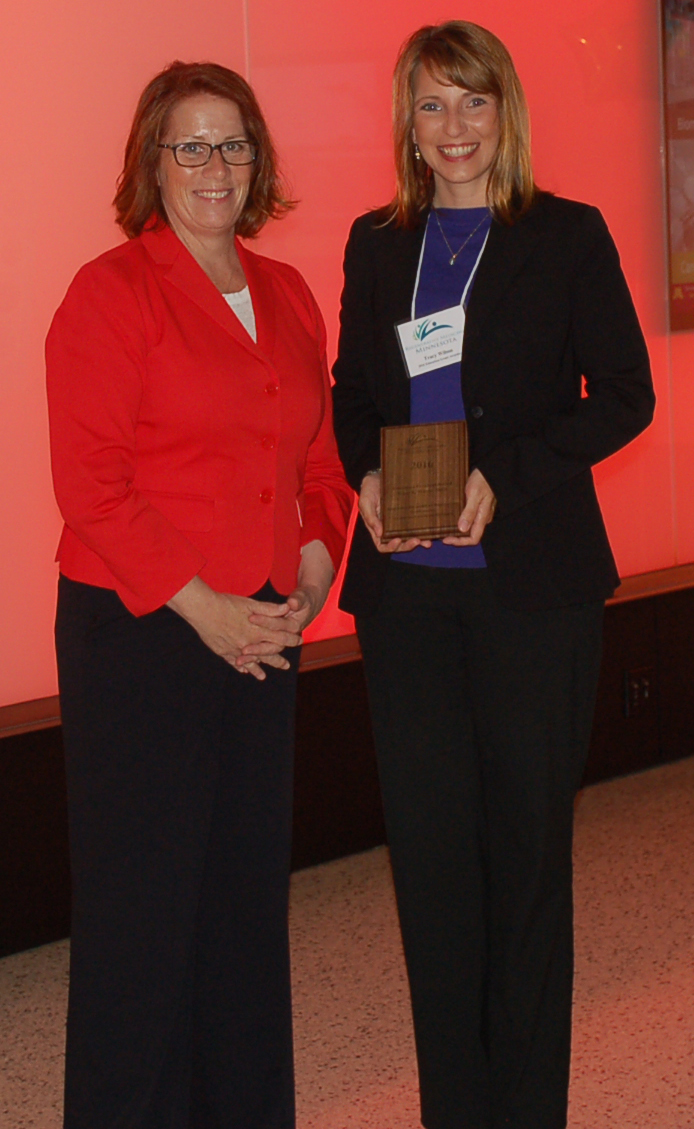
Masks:
[[[257,261],[256,255],[246,251],[237,239],[236,246],[253,298],[258,331],[257,344],[202,266],[169,227],[158,231],[146,231],[142,240],[151,257],[166,269],[165,278],[168,282],[213,318],[239,345],[263,360],[270,359],[269,355],[274,344],[274,309],[269,294],[272,283],[271,280],[260,277],[261,270],[254,262]]]

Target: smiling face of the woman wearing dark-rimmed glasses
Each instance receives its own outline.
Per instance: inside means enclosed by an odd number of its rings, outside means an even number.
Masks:
[[[247,140],[238,106],[228,98],[196,94],[177,103],[169,114],[161,141]],[[253,165],[226,165],[217,149],[207,165],[182,168],[170,149],[161,149],[158,180],[168,221],[181,239],[190,244],[210,236],[232,238],[244,209]]]

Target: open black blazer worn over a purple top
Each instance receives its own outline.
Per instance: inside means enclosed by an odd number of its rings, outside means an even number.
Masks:
[[[383,215],[370,212],[348,242],[333,396],[357,491],[380,465],[380,428],[410,420],[394,326],[410,317],[425,220],[414,230],[379,227]],[[648,426],[655,396],[620,257],[596,208],[543,193],[513,226],[492,221],[460,379],[471,463],[498,501],[482,543],[499,601],[533,611],[609,596],[618,576],[590,467]],[[341,606],[371,614],[388,564],[358,522]]]

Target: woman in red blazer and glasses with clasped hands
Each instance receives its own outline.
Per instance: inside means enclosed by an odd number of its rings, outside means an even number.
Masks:
[[[73,928],[65,1126],[293,1126],[298,645],[352,495],[247,84],[174,63],[47,340]]]

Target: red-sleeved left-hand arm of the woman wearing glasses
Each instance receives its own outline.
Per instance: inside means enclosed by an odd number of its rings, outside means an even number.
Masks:
[[[135,615],[205,563],[133,487],[147,342],[137,295],[113,264],[84,268],[46,341],[51,455],[65,523],[106,563]]]

